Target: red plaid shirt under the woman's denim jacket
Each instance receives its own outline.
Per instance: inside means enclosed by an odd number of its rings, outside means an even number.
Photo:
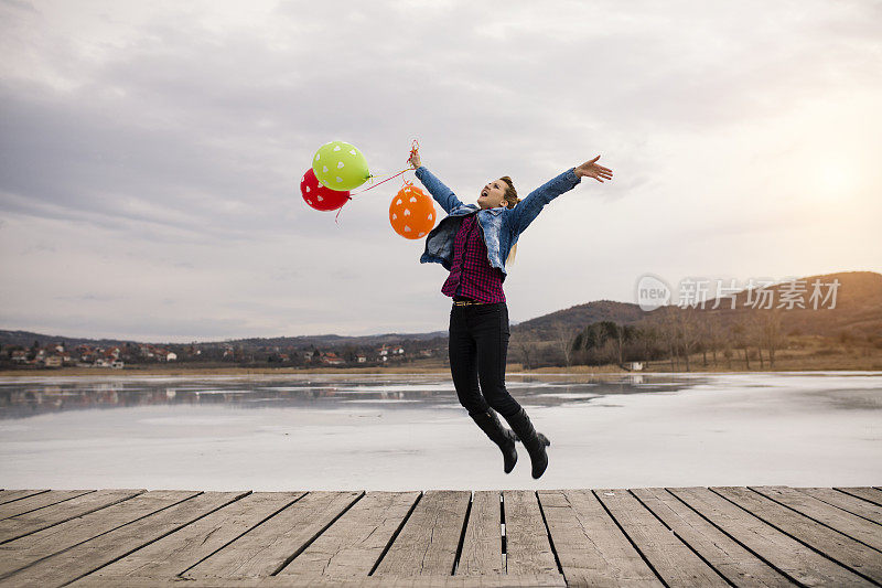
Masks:
[[[490,265],[477,213],[469,214],[453,238],[453,263],[441,292],[481,302],[505,302],[503,271]]]

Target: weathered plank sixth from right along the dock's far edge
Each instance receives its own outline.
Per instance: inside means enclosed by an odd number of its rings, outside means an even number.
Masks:
[[[639,488],[631,492],[732,585],[793,586],[786,576],[707,522],[664,488]]]

